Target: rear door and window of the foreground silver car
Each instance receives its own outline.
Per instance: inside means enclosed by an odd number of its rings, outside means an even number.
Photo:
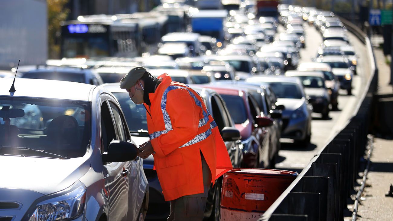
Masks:
[[[125,141],[125,142],[131,142],[131,137],[130,133],[128,131],[128,126],[125,121],[125,117],[123,115],[123,112],[117,105],[116,101],[114,101],[114,98],[109,99],[109,105],[110,109],[112,111],[112,114],[114,116],[114,122],[116,126],[116,131],[119,134],[119,140]],[[140,180],[140,169],[141,169],[141,159],[140,157],[136,157],[132,161],[124,162],[126,164],[125,166],[125,171],[123,173],[127,173],[125,177],[127,178],[127,188],[128,188],[128,212],[127,212],[127,220],[136,220],[138,214],[139,214],[139,209],[140,205],[143,201],[143,194],[138,194],[142,193],[142,191],[139,188],[139,182]]]

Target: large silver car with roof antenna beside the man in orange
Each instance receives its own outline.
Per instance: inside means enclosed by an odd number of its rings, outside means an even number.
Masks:
[[[0,79],[0,220],[144,219],[148,183],[102,87]]]

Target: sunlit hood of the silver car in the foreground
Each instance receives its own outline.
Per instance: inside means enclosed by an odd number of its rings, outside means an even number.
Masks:
[[[44,195],[64,190],[89,169],[85,157],[68,160],[0,156],[0,188],[32,190]]]

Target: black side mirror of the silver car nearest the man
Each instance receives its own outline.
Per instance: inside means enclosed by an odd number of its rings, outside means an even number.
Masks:
[[[138,147],[135,144],[113,140],[109,144],[108,152],[102,154],[102,161],[103,163],[131,161],[135,160],[138,152]]]

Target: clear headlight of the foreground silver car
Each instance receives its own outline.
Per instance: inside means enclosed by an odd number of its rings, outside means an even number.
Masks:
[[[29,221],[71,220],[79,217],[84,210],[86,186],[81,181],[69,188],[47,195],[44,201],[37,204]]]

